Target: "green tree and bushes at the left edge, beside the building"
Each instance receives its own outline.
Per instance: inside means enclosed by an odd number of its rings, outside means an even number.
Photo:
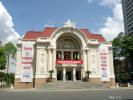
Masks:
[[[0,70],[4,70],[6,67],[7,59],[9,55],[15,57],[16,55],[16,47],[11,43],[5,44],[3,47],[0,47]],[[4,82],[6,86],[10,86],[10,84],[14,83],[14,74],[13,73],[4,73],[0,72],[0,82],[1,84]],[[1,85],[3,88],[3,84]]]

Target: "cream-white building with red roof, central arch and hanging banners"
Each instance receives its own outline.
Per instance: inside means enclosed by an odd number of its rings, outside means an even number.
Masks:
[[[115,85],[111,43],[70,21],[61,28],[27,32],[17,44],[15,88],[44,87],[48,81]]]

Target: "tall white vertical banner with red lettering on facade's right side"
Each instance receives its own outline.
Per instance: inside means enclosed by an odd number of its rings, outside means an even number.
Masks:
[[[108,47],[100,46],[100,70],[101,70],[101,81],[109,81],[109,68],[108,68]]]

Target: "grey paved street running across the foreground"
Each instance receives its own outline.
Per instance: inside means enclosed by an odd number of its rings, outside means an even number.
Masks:
[[[133,89],[87,91],[0,90],[0,100],[133,100]]]

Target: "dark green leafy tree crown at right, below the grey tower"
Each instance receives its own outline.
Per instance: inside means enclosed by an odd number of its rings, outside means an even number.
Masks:
[[[133,35],[124,35],[120,33],[113,40],[115,57],[133,57]]]

